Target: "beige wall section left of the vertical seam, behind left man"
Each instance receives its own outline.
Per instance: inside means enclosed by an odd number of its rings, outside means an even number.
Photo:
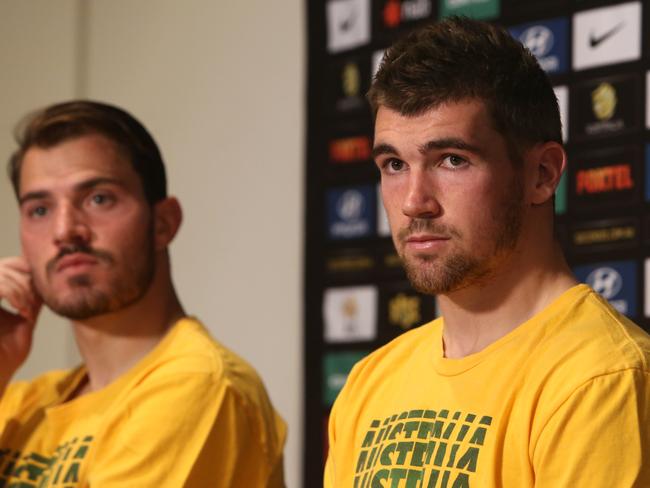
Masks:
[[[75,0],[0,1],[0,256],[20,249],[16,203],[4,177],[5,161],[14,149],[13,128],[34,108],[74,96],[77,22]],[[73,350],[67,324],[46,311],[39,320],[32,354],[18,377],[67,367],[76,358]]]

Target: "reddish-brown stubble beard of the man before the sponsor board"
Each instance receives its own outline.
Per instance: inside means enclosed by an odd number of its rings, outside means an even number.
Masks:
[[[463,288],[486,282],[498,263],[517,245],[523,222],[523,186],[515,177],[510,191],[506,192],[502,211],[498,212],[493,222],[493,229],[486,238],[494,242],[493,252],[488,256],[476,256],[466,251],[456,251],[444,258],[431,255],[407,256],[404,242],[409,234],[428,231],[433,234],[446,234],[461,238],[453,228],[441,227],[427,219],[414,219],[409,228],[397,236],[401,249],[406,276],[413,288],[427,295],[446,295]]]

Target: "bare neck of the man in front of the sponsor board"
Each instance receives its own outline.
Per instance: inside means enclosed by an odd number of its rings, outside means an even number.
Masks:
[[[439,296],[446,357],[485,349],[577,284],[557,243],[519,247],[481,283]]]

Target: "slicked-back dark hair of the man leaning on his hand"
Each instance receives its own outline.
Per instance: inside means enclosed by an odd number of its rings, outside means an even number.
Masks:
[[[140,177],[150,204],[167,197],[165,165],[153,137],[128,112],[106,103],[74,100],[28,115],[15,131],[18,149],[9,158],[8,173],[19,196],[20,171],[31,147],[51,148],[88,134],[105,136],[124,152]]]

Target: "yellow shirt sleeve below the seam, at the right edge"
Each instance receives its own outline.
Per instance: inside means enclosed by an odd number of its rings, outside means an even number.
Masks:
[[[650,486],[650,374],[626,369],[573,392],[531,451],[535,486]]]

